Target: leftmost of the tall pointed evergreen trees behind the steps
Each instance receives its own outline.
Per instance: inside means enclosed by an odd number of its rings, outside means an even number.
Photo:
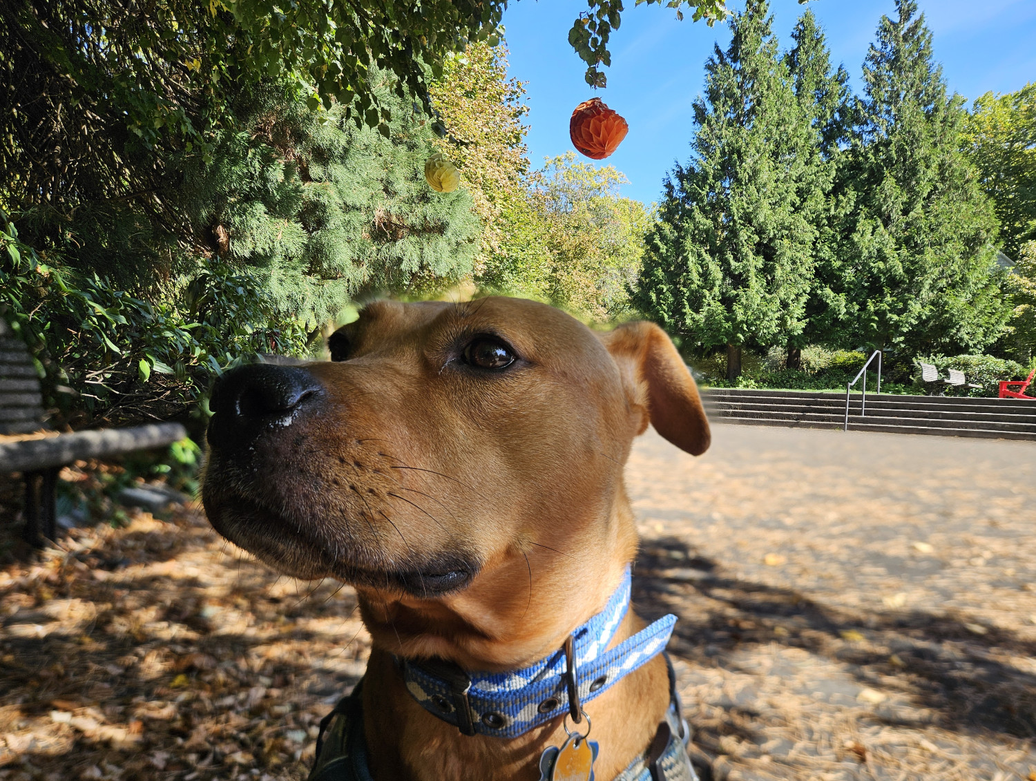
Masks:
[[[635,305],[685,349],[784,344],[805,327],[825,174],[771,30],[767,0],[731,21],[706,63],[691,161],[665,183]]]

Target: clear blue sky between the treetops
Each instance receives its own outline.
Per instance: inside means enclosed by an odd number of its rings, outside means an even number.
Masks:
[[[625,3],[622,27],[612,32],[607,89],[583,81],[584,65],[568,42],[568,31],[585,0],[518,0],[503,16],[511,50],[511,75],[528,82],[528,148],[535,166],[572,148],[569,117],[587,97],[600,96],[630,125],[623,145],[603,162],[626,174],[623,195],[656,201],[674,161],[686,162],[693,131],[692,103],[700,93],[704,61],[713,45],[725,48],[726,25],[708,27],[671,9]],[[988,90],[1011,92],[1036,80],[1036,1],[919,0],[951,91],[970,100]],[[735,7],[743,7],[736,3]],[[774,32],[782,48],[806,6],[772,0]],[[883,13],[894,16],[893,0],[811,0],[824,27],[832,60],[845,65],[853,88]],[[584,162],[589,162],[582,157]]]

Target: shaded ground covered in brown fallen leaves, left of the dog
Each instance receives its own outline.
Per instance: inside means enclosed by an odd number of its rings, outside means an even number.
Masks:
[[[0,571],[0,779],[305,777],[366,666],[351,589],[236,560],[196,513],[62,547]]]

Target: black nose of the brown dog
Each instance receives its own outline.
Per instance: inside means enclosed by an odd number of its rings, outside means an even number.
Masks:
[[[256,364],[231,369],[212,385],[206,438],[212,447],[240,447],[264,428],[291,425],[323,395],[317,378],[299,367]]]

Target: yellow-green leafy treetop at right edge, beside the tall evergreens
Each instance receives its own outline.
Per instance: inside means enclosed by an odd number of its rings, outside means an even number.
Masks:
[[[1036,82],[976,99],[961,142],[992,199],[1004,252],[1014,259],[1036,238]]]

